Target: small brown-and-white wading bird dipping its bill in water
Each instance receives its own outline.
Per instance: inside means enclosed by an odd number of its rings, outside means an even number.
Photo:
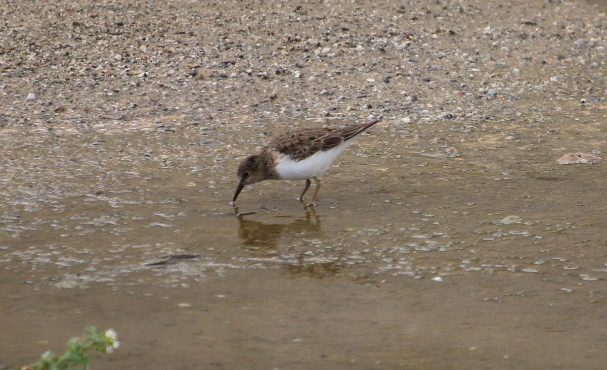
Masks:
[[[277,136],[265,144],[261,152],[249,155],[238,167],[240,183],[234,193],[232,204],[236,203],[240,190],[245,185],[263,180],[305,180],[304,192],[297,198],[303,203],[313,178],[316,190],[306,206],[314,206],[320,190],[319,177],[327,172],[331,163],[350,145],[352,138],[378,123],[370,123],[341,129],[296,129]]]

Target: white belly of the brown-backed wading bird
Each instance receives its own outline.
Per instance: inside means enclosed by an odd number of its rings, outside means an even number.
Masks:
[[[324,152],[317,152],[303,161],[294,161],[288,155],[280,154],[276,161],[276,172],[282,180],[305,180],[321,177],[348,145],[350,145],[350,141]]]

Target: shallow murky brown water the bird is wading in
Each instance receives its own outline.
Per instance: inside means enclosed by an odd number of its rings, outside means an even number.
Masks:
[[[96,369],[603,369],[606,170],[557,159],[604,112],[386,121],[314,209],[302,181],[228,204],[277,124],[4,135],[0,364],[97,325],[122,346]]]

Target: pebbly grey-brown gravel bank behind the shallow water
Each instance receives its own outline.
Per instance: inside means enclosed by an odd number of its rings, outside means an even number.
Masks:
[[[551,0],[6,0],[0,130],[540,119],[582,99],[605,105],[603,11]]]

